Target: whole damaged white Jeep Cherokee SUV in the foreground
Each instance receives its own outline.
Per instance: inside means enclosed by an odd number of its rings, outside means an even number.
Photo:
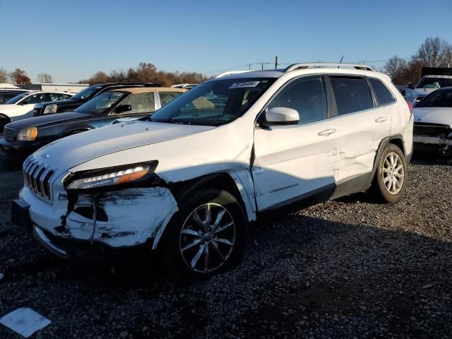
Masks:
[[[412,125],[367,66],[237,73],[30,155],[13,222],[64,258],[143,246],[179,278],[205,278],[237,261],[266,213],[368,189],[399,201]]]

